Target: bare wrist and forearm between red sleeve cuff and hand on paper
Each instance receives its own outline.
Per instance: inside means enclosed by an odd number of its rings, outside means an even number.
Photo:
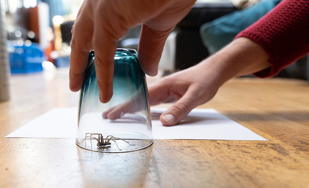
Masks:
[[[259,72],[270,67],[268,55],[257,43],[247,38],[238,38],[200,63],[214,72],[222,85],[235,76]]]

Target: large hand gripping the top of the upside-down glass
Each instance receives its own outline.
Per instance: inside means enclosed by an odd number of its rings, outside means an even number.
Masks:
[[[70,90],[83,83],[88,53],[95,50],[99,98],[112,97],[116,42],[129,28],[143,23],[138,59],[143,71],[155,76],[165,40],[171,29],[189,12],[195,0],[85,0],[72,28]]]

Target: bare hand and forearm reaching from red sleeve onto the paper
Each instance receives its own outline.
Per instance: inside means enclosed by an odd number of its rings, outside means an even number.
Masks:
[[[150,105],[175,102],[160,115],[163,125],[176,125],[235,76],[270,67],[268,55],[255,42],[239,38],[201,63],[164,77],[149,87]]]

